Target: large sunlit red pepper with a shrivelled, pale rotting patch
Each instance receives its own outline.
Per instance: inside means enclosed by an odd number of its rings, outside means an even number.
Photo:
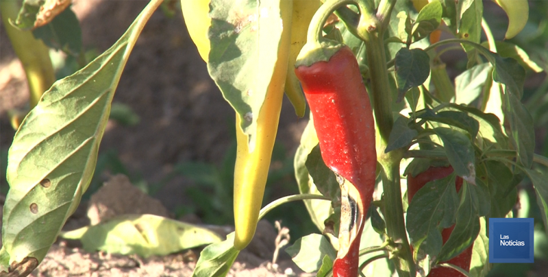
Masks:
[[[358,62],[349,47],[327,62],[300,66],[295,73],[314,117],[325,165],[348,182],[346,210],[341,212],[343,241],[333,266],[334,276],[358,276],[364,215],[375,190],[375,122]],[[351,184],[349,184],[351,183]],[[343,189],[344,191],[344,189]],[[345,195],[343,193],[345,210]],[[345,220],[343,220],[345,218]],[[345,222],[346,221],[346,222]],[[346,228],[346,229],[345,229]],[[341,232],[339,242],[341,242]]]

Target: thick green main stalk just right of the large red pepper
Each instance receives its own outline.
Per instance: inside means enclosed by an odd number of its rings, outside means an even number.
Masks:
[[[403,157],[403,150],[397,149],[384,153],[388,145],[388,138],[394,125],[392,115],[392,97],[388,68],[386,67],[386,53],[384,51],[384,30],[390,20],[390,13],[395,0],[382,0],[379,3],[377,14],[362,13],[358,25],[360,38],[366,45],[369,75],[371,76],[371,91],[369,92],[375,112],[375,131],[377,132],[377,160],[382,166],[382,184],[384,189],[384,217],[386,231],[390,240],[399,243],[401,248],[390,260],[395,264],[400,277],[416,275],[416,269],[407,239],[405,221],[403,218],[403,204],[401,202],[401,188],[399,164]]]

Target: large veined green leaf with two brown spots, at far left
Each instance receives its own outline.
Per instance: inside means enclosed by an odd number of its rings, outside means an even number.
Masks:
[[[44,93],[14,136],[2,241],[10,263],[42,261],[88,189],[114,91],[129,53],[162,1],[151,1],[127,32],[84,69]]]

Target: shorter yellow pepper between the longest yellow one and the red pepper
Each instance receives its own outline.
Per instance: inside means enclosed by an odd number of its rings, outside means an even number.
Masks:
[[[306,32],[312,16],[321,2],[319,0],[293,0],[293,14],[291,18],[291,49],[286,77],[286,95],[295,108],[298,117],[303,117],[306,110],[301,84],[295,75],[295,60],[306,44]]]

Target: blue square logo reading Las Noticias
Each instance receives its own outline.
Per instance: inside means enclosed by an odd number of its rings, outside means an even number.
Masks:
[[[489,219],[489,263],[534,263],[532,218]]]

